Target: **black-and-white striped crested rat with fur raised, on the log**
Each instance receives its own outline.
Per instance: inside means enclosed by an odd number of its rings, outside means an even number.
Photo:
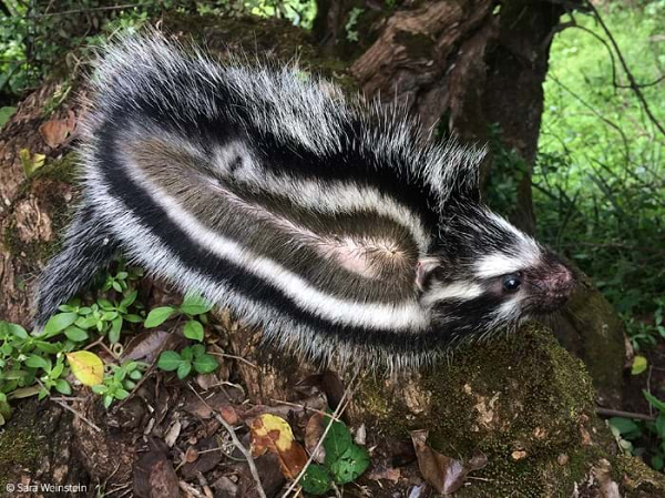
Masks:
[[[91,87],[83,201],[38,327],[119,251],[321,360],[413,365],[573,288],[479,201],[482,150],[428,144],[396,108],[157,35],[106,49]]]

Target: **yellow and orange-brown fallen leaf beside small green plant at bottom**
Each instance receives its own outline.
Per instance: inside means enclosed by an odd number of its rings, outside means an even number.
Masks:
[[[269,451],[279,459],[279,468],[288,479],[295,479],[307,464],[305,449],[294,439],[288,423],[276,415],[264,414],[252,420],[252,455]]]

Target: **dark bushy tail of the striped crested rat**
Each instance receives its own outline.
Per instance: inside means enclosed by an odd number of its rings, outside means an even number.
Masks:
[[[62,251],[44,268],[34,296],[33,325],[41,329],[49,318],[112,260],[117,243],[92,207],[82,205],[64,237]]]

